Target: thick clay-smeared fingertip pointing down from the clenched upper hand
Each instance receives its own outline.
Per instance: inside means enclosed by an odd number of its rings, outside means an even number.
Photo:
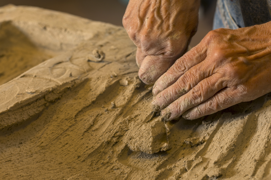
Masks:
[[[138,71],[139,78],[145,84],[154,83],[174,64],[176,59],[168,59],[163,54],[146,56]]]

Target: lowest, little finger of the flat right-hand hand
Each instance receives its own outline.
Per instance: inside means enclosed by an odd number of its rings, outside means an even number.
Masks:
[[[236,92],[231,88],[225,88],[207,101],[185,111],[182,116],[185,119],[197,119],[205,115],[210,115],[242,102],[240,97],[236,96]]]

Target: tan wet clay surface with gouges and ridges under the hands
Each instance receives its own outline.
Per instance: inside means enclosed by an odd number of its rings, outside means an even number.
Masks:
[[[10,5],[0,40],[1,179],[270,179],[271,94],[147,124],[123,28]]]

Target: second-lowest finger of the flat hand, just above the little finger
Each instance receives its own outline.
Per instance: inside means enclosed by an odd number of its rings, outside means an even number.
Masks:
[[[214,96],[216,92],[225,87],[226,83],[223,75],[220,73],[213,74],[212,76],[203,79],[188,93],[163,109],[161,111],[161,115],[165,120],[178,118],[186,110],[206,101],[210,97]]]

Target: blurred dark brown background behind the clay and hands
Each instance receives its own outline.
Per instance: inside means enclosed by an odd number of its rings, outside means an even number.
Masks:
[[[0,7],[7,4],[36,6],[67,12],[91,20],[122,26],[122,16],[128,0],[0,0]],[[216,0],[202,0],[197,34],[191,41],[196,46],[212,30]]]

